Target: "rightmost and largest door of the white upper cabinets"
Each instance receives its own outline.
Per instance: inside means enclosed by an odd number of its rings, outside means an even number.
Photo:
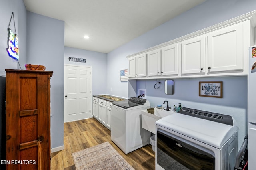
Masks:
[[[208,34],[208,72],[243,70],[243,23]]]

